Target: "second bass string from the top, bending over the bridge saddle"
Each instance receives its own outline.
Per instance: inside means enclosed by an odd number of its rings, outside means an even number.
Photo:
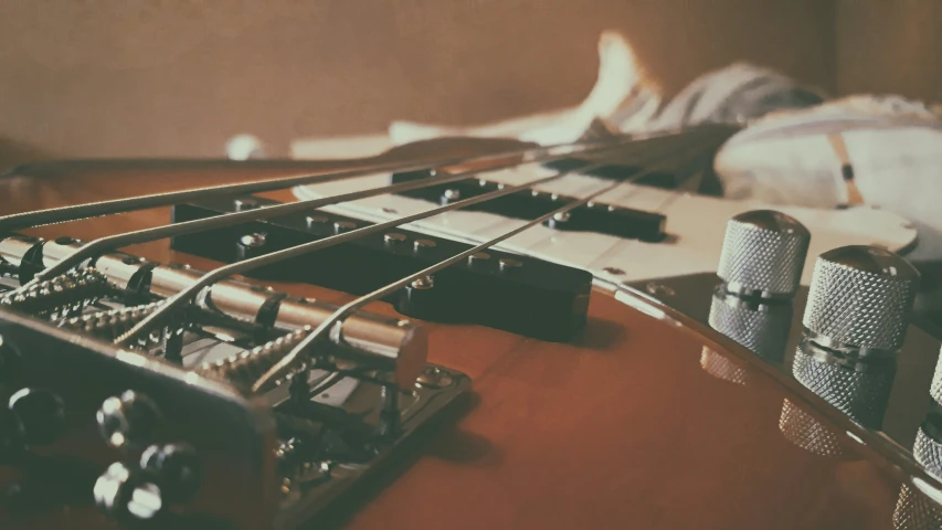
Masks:
[[[629,141],[627,139],[620,140],[622,142]],[[592,153],[595,151],[604,151],[607,149],[617,148],[620,144],[614,145],[605,145],[594,148],[589,148],[580,151],[580,153]],[[29,287],[32,284],[41,282],[46,278],[52,278],[60,274],[65,273],[70,268],[78,265],[85,259],[94,257],[96,254],[100,254],[103,252],[112,251],[115,248],[119,248],[121,246],[136,245],[139,243],[146,243],[148,241],[161,240],[165,237],[173,237],[178,235],[192,234],[195,232],[201,232],[205,230],[212,230],[222,226],[230,226],[240,222],[248,222],[248,221],[257,221],[262,219],[271,219],[278,215],[289,215],[297,212],[305,212],[308,210],[313,210],[316,208],[327,206],[331,204],[337,204],[340,202],[354,201],[358,199],[364,199],[368,197],[382,195],[387,193],[398,193],[402,191],[417,190],[422,188],[427,188],[431,186],[437,184],[447,184],[451,182],[457,182],[462,180],[468,180],[477,174],[490,172],[490,171],[499,171],[507,168],[525,166],[527,163],[540,163],[548,162],[552,160],[557,160],[560,158],[565,158],[571,156],[570,153],[564,155],[551,155],[541,157],[538,160],[530,162],[508,162],[505,165],[486,168],[484,170],[469,170],[462,171],[459,173],[453,174],[443,174],[441,177],[431,177],[426,179],[422,179],[420,181],[409,181],[409,182],[400,182],[396,184],[383,186],[379,188],[370,188],[367,190],[360,190],[349,193],[342,193],[339,195],[331,195],[318,199],[308,199],[304,201],[290,202],[287,204],[278,204],[266,208],[258,208],[253,210],[245,210],[242,212],[229,213],[224,215],[216,215],[209,219],[199,219],[193,221],[184,221],[176,224],[168,224],[163,226],[155,226],[150,229],[142,229],[134,232],[125,232],[123,234],[109,235],[106,237],[99,237],[97,240],[85,243],[81,247],[76,248],[75,252],[65,256],[55,265],[46,268],[38,273],[32,280],[24,284],[20,288]]]

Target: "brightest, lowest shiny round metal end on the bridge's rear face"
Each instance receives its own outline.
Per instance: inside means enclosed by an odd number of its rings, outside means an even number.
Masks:
[[[121,522],[152,520],[163,509],[160,488],[145,473],[120,462],[98,477],[93,494],[98,508]]]

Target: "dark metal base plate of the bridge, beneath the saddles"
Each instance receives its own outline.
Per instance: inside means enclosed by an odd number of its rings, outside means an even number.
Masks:
[[[0,290],[9,287],[4,284]],[[109,307],[99,301],[86,310],[93,312]],[[199,499],[193,505],[181,506],[174,515],[180,518],[173,520],[173,527],[212,519],[219,528],[292,530],[307,528],[334,505],[347,506],[348,500],[356,504],[356,491],[351,489],[369,481],[391,456],[405,454],[409,449],[403,445],[433,418],[440,420],[446,409],[457,410],[457,399],[472,388],[467,375],[426,364],[414,388],[396,394],[399,420],[393,422],[398,424],[395,428],[377,436],[372,433],[379,432],[382,418],[389,415],[383,413],[383,386],[368,378],[310,371],[313,389],[322,388],[331,378],[336,381],[329,389],[308,394],[311,413],[305,415],[287,410],[286,404],[292,402],[287,385],[250,399],[229,385],[192,378],[194,367],[243,351],[251,340],[234,330],[227,333],[199,328],[188,331],[180,367],[145,352],[123,352],[107,342],[57,329],[41,319],[0,311],[3,344],[15,348],[24,359],[12,379],[10,370],[4,369],[0,374],[0,392],[6,395],[20,388],[39,386],[64,400],[66,431],[61,442],[42,447],[42,454],[82,464],[81,475],[67,480],[59,478],[70,484],[65,489],[75,491],[74,499],[67,500],[75,510],[96,511],[89,504],[92,486],[113,462],[134,465],[139,459],[139,448],[130,453],[109,449],[97,432],[95,416],[106,398],[135,390],[152,398],[163,416],[161,426],[148,443],[182,442],[194,446],[208,468],[202,481],[205,497],[229,499],[222,506]],[[286,417],[288,428],[283,428]],[[447,421],[447,417],[441,418]],[[331,456],[279,463],[275,449],[292,436],[286,432],[296,433],[290,420],[308,425],[319,423],[328,432],[334,432],[336,425],[356,423],[360,434],[357,441],[368,439],[368,448],[353,452],[350,458],[345,457],[349,452],[320,451],[318,455]],[[275,473],[265,473],[265,469],[275,469]],[[241,478],[233,481],[232,477]],[[32,481],[41,483],[40,478]],[[0,487],[11,485],[6,476],[0,476]],[[345,494],[350,495],[341,499]],[[229,504],[234,506],[226,508]],[[273,504],[271,510],[263,509]],[[0,510],[0,521],[4,517]],[[13,527],[19,528],[17,521],[29,522],[40,513],[13,517]]]

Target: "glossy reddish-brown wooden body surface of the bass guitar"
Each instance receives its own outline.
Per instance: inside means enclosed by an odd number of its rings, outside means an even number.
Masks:
[[[176,171],[118,178],[61,169],[61,176],[0,182],[0,213],[194,184]],[[247,173],[201,172],[199,186],[257,178]],[[267,195],[290,200],[288,191]],[[155,209],[28,232],[89,240],[115,226],[168,221],[168,209]],[[128,251],[213,266],[171,252],[167,242]],[[326,301],[350,299],[309,285],[273,285]],[[368,309],[394,315],[383,304]],[[833,410],[743,348],[675,317],[655,303],[632,307],[595,289],[584,336],[570,343],[427,324],[428,360],[469,375],[473,399],[425,428],[372,486],[332,506],[318,528],[893,527],[901,485],[911,480],[907,470],[880,447],[845,434]],[[705,348],[748,372],[748,384],[705,371]],[[786,400],[834,432],[840,458],[818,456],[782,435]],[[0,473],[0,481],[10,478],[9,470]],[[92,506],[9,518],[9,510],[0,511],[3,528],[112,528]],[[254,527],[236,520],[231,528]]]

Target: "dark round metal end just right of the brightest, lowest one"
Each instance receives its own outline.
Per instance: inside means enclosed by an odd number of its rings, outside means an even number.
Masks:
[[[167,502],[186,502],[200,487],[200,460],[186,444],[151,445],[140,455],[140,468],[160,486]]]

